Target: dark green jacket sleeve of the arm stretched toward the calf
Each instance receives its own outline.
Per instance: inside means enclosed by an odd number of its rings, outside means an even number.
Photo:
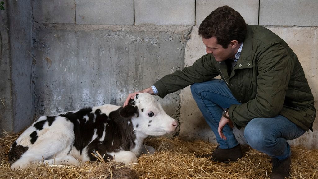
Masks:
[[[163,76],[154,86],[158,89],[158,95],[163,98],[168,93],[183,89],[193,83],[205,82],[218,75],[213,64],[211,54],[206,54],[194,62],[192,66],[185,67],[170,75]]]

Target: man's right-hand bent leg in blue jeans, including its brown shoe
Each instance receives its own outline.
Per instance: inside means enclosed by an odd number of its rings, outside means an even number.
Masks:
[[[245,127],[244,138],[252,148],[272,157],[271,179],[290,176],[291,152],[287,140],[300,137],[305,131],[287,118],[255,118]]]

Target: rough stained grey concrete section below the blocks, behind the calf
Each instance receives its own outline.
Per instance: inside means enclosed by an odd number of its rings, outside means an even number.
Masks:
[[[184,66],[191,27],[180,30],[171,26],[165,32],[153,31],[152,27],[133,27],[134,31],[101,27],[74,31],[49,26],[35,30],[36,114],[122,105],[129,93],[147,88]],[[173,29],[182,33],[172,33]],[[169,115],[178,118],[179,100],[178,93],[173,93],[160,101]]]

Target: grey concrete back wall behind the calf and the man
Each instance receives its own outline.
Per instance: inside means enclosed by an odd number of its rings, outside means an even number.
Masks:
[[[266,26],[285,39],[299,57],[318,98],[316,0],[32,0],[33,44],[26,33],[28,38],[23,40],[27,49],[21,50],[26,53],[30,47],[34,56],[30,84],[31,90],[34,88],[35,114],[56,114],[104,103],[121,105],[128,93],[192,65],[205,54],[197,35],[198,25],[222,5],[239,11],[246,23]],[[17,26],[25,27],[23,23]],[[16,88],[16,94],[20,94]],[[215,142],[189,88],[158,100],[168,114],[179,119],[179,136]],[[318,148],[317,121],[314,130],[291,143]],[[242,130],[235,133],[244,143]]]

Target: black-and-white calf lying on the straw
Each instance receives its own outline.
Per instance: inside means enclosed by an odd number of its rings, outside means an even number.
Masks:
[[[11,169],[30,163],[49,165],[93,161],[91,154],[117,162],[137,162],[143,140],[173,132],[177,121],[169,117],[153,96],[139,93],[125,107],[105,104],[58,116],[42,116],[12,144]]]

